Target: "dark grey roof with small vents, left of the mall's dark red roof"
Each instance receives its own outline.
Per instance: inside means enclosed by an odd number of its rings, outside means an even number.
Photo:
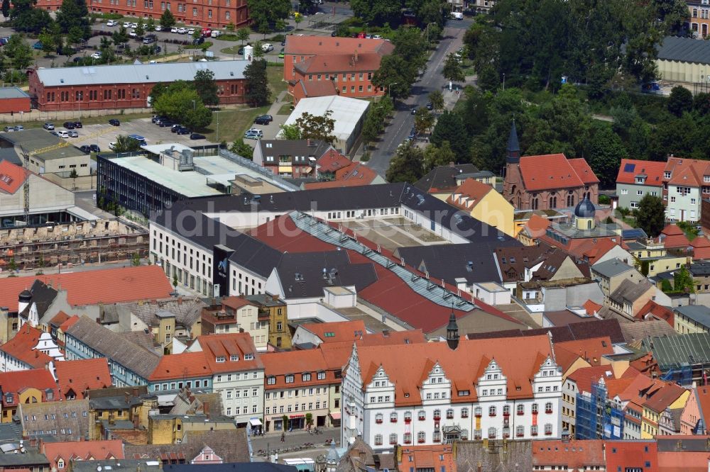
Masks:
[[[276,269],[287,298],[320,297],[328,286],[355,286],[361,291],[377,281],[371,263],[351,264],[346,251],[285,253]],[[323,269],[328,274],[335,269],[332,283],[328,276],[323,278]]]

